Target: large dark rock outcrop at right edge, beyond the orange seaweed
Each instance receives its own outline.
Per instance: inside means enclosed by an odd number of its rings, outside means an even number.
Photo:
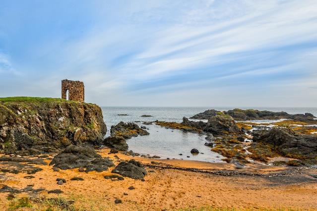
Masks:
[[[253,141],[272,145],[279,154],[299,159],[317,159],[317,136],[296,134],[287,127],[255,130]]]

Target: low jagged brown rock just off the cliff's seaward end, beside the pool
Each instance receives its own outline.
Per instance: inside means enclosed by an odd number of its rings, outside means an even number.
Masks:
[[[130,139],[138,135],[149,135],[146,130],[141,129],[137,124],[132,122],[119,122],[117,125],[111,126],[110,134],[111,136],[121,136],[125,139]]]

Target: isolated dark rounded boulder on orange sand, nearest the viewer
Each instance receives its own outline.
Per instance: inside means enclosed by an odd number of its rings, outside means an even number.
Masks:
[[[128,162],[120,162],[116,168],[112,170],[112,173],[117,173],[133,179],[143,179],[146,175],[146,170],[140,162],[130,159]]]

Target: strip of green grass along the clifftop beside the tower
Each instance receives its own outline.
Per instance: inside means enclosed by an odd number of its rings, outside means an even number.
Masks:
[[[61,98],[39,98],[39,97],[7,97],[0,98],[0,103],[53,103],[53,102],[73,102]]]

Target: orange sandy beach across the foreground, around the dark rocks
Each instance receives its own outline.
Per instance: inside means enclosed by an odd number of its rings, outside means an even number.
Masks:
[[[122,154],[108,155],[109,150],[99,150],[103,157],[113,158],[115,164],[120,159],[131,159]],[[115,158],[117,155],[120,159]],[[0,186],[25,188],[33,184],[34,189],[61,189],[63,194],[48,194],[47,191],[33,197],[63,197],[73,200],[78,210],[178,210],[189,208],[236,208],[236,209],[298,209],[317,210],[317,169],[303,169],[302,173],[293,168],[253,164],[243,170],[234,169],[228,163],[208,163],[176,159],[150,159],[134,157],[146,166],[145,181],[125,177],[123,181],[105,179],[106,172],[79,172],[78,169],[55,172],[52,166],[39,166],[39,171],[26,179],[27,174],[5,173],[0,177]],[[47,160],[49,162],[50,160]],[[153,164],[154,161],[156,164]],[[159,163],[159,164],[158,164]],[[177,168],[177,169],[173,169]],[[190,169],[203,170],[194,172]],[[292,173],[287,173],[290,170]],[[154,171],[154,172],[152,172]],[[223,176],[217,172],[238,172]],[[286,172],[282,175],[281,172]],[[253,175],[254,173],[254,175]],[[276,174],[282,176],[274,176]],[[259,176],[259,175],[260,176]],[[67,180],[58,185],[56,178]],[[72,177],[82,177],[84,181],[70,181]],[[134,186],[134,190],[129,190]],[[124,195],[127,193],[127,195]],[[6,210],[8,193],[0,193],[0,210]],[[17,196],[25,196],[25,193]],[[121,199],[122,204],[115,204]]]

